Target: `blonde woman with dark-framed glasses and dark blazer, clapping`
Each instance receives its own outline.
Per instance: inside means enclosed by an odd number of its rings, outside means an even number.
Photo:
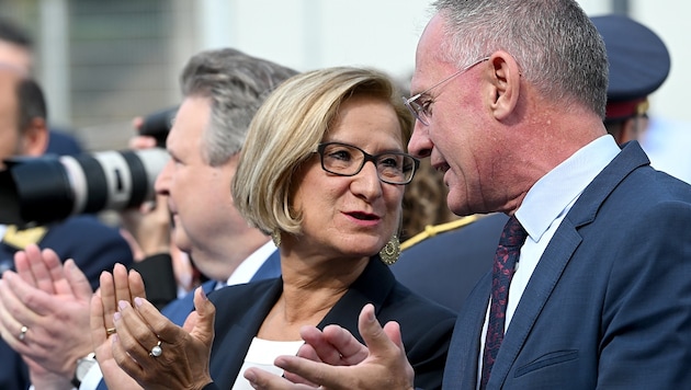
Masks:
[[[303,325],[339,324],[359,336],[358,314],[372,303],[382,323],[397,321],[416,386],[440,388],[454,314],[384,264],[395,261],[404,190],[419,164],[406,152],[412,123],[378,71],[330,68],[281,84],[250,125],[233,202],[273,237],[282,277],[211,300],[197,291],[183,329],[146,300],[123,301],[118,366],[147,389],[251,389],[245,370],[282,374],[273,359],[298,352]]]

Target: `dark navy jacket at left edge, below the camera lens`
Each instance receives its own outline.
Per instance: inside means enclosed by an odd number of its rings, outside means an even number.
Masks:
[[[87,275],[91,288],[99,287],[103,271],[112,271],[115,263],[128,266],[132,251],[115,228],[101,223],[95,217],[82,215],[48,226],[47,233],[38,242],[42,249],[54,250],[60,260],[73,259]],[[0,243],[0,263],[14,269],[14,252],[20,250]],[[19,330],[18,330],[19,334]],[[29,370],[22,357],[0,340],[0,389],[25,390],[29,388]]]

